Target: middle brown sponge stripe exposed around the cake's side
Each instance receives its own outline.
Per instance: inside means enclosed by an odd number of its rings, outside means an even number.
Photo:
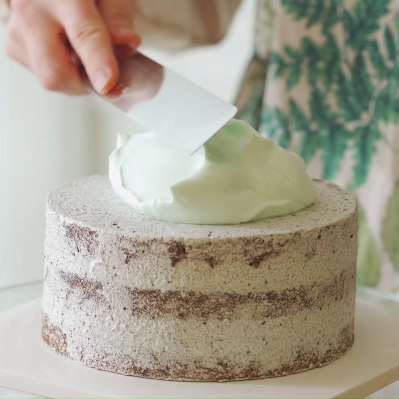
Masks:
[[[107,288],[99,281],[84,279],[77,274],[59,272],[69,293],[99,303],[109,300]],[[246,294],[232,292],[200,292],[140,290],[119,287],[113,295],[111,305],[115,312],[126,312],[134,317],[172,317],[185,319],[216,318],[218,320],[244,317],[243,309],[251,309],[254,319],[276,318],[295,315],[303,309],[322,309],[332,301],[340,301],[353,291],[355,275],[352,270],[342,270],[328,282],[313,282],[309,286],[300,285],[281,291],[265,290]],[[67,293],[67,295],[69,294]],[[125,298],[129,300],[126,301]]]

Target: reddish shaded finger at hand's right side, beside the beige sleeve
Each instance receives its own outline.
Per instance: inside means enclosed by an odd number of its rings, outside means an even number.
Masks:
[[[98,8],[114,44],[124,44],[136,49],[140,36],[133,31],[134,4],[132,0],[100,0]]]

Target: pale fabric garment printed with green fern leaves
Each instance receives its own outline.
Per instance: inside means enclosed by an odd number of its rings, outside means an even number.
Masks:
[[[259,0],[238,117],[361,205],[358,282],[399,286],[399,0]]]

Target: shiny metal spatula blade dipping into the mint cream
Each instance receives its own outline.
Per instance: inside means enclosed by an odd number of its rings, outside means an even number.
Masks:
[[[119,62],[119,83],[101,97],[190,154],[237,112],[235,106],[139,52]]]

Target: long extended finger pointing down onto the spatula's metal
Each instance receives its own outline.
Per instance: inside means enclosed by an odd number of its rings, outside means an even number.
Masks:
[[[100,12],[93,0],[68,0],[62,4],[57,16],[93,87],[105,94],[117,83],[119,70]]]

